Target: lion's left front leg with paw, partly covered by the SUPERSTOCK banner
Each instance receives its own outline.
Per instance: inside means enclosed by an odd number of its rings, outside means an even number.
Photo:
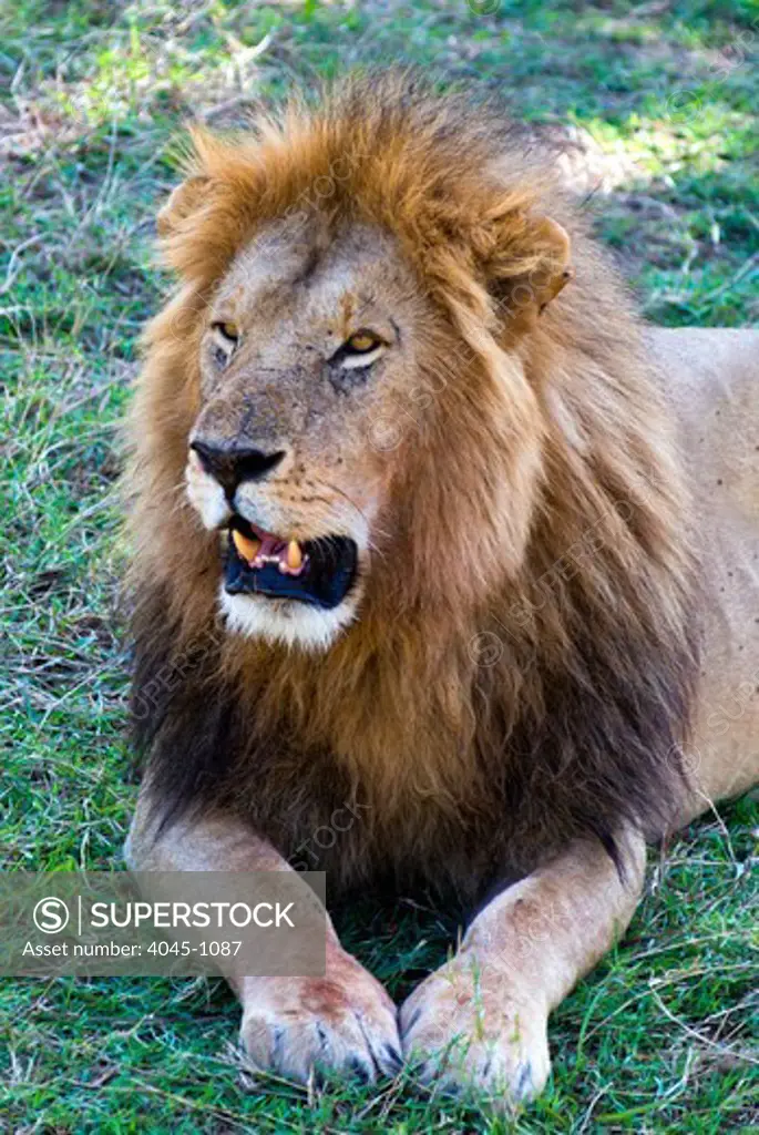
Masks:
[[[135,871],[288,871],[286,860],[233,817],[182,819],[160,834],[143,790],[126,856]],[[318,977],[250,977],[229,960],[225,977],[243,1007],[241,1039],[252,1060],[293,1079],[335,1069],[374,1079],[400,1067],[396,1007],[347,953],[327,918],[327,966]]]

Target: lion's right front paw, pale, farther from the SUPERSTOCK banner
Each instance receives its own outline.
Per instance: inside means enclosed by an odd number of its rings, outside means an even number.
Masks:
[[[422,1082],[482,1093],[503,1107],[538,1095],[550,1073],[540,997],[517,994],[503,968],[467,951],[414,990],[400,1009],[400,1034]]]

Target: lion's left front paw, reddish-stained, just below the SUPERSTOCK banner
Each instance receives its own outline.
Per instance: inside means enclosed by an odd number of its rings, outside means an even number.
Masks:
[[[247,978],[241,1041],[258,1068],[302,1083],[314,1070],[372,1082],[402,1063],[396,1007],[348,953],[324,977]]]

